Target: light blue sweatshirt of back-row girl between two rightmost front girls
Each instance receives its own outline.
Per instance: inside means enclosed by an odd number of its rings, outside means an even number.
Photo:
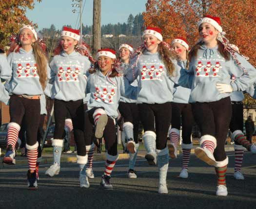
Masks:
[[[186,69],[187,60],[184,61],[178,61],[178,66],[181,67],[181,69]],[[180,70],[181,70],[180,69]],[[177,79],[180,77],[180,70],[177,70]],[[190,97],[191,89],[181,87],[178,84],[174,85],[174,93],[173,93],[173,101],[175,103],[182,103],[182,104],[188,104],[189,97]]]

